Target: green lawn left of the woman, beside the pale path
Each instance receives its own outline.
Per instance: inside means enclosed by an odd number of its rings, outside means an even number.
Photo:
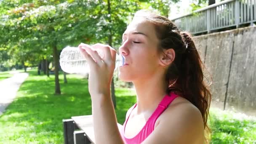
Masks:
[[[72,116],[91,115],[91,97],[88,82],[67,75],[59,76],[61,95],[54,95],[54,75],[47,77],[29,72],[16,99],[0,116],[0,143],[63,143],[62,120]],[[117,89],[117,120],[123,124],[126,111],[135,103],[134,96],[126,96],[128,90]]]

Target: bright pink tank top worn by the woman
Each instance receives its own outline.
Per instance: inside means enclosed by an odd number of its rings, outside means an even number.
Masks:
[[[171,95],[171,96],[170,96]],[[131,115],[132,110],[136,107],[137,103],[133,105],[133,108],[128,115],[127,119],[125,120],[125,123],[123,124],[123,128],[120,131],[121,136],[123,138],[123,141],[125,144],[140,144],[142,141],[144,141],[152,131],[154,131],[154,126],[157,118],[165,111],[165,109],[168,107],[171,102],[178,97],[178,95],[174,93],[170,93],[170,95],[166,94],[160,104],[158,104],[158,107],[155,109],[153,114],[149,117],[144,127],[141,129],[141,131],[134,136],[133,138],[126,138],[125,137],[125,126],[127,121],[129,120],[129,117]]]

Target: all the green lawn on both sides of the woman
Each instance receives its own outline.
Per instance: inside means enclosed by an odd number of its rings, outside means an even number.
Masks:
[[[62,119],[91,115],[91,98],[87,80],[67,75],[64,84],[60,75],[60,96],[54,95],[54,76],[38,76],[35,70],[21,85],[17,98],[0,116],[0,144],[63,144]],[[135,102],[135,92],[116,88],[116,115],[123,124],[125,113]],[[256,121],[230,116],[230,112],[211,109],[212,144],[256,143]],[[209,121],[210,123],[210,121]]]

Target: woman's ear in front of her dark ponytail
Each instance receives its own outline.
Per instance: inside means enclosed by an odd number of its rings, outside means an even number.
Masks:
[[[173,50],[173,48],[169,48],[169,49],[164,49],[163,53],[161,53],[160,55],[160,61],[159,64],[161,66],[168,66],[170,65],[175,58],[175,51]]]

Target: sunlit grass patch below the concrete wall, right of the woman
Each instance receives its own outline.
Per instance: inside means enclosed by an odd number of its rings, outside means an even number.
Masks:
[[[211,144],[256,144],[256,118],[212,108]]]

